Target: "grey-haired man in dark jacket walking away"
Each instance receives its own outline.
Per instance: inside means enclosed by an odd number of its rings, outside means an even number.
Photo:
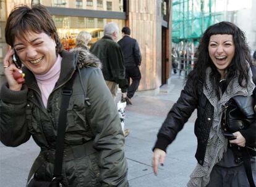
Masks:
[[[95,42],[90,52],[100,58],[103,64],[102,73],[106,84],[113,95],[117,94],[117,84],[122,92],[122,97],[127,97],[127,81],[125,78],[124,57],[122,50],[117,44],[119,28],[114,22],[104,27],[104,36]]]

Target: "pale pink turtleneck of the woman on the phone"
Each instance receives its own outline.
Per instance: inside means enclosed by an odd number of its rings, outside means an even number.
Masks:
[[[47,108],[49,95],[53,91],[54,86],[59,79],[59,74],[61,73],[61,60],[62,57],[58,55],[53,67],[46,74],[35,75],[45,108]]]

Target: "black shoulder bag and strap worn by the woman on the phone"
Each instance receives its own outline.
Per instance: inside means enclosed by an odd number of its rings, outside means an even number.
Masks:
[[[54,158],[54,171],[53,171],[53,179],[51,181],[40,180],[35,176],[32,177],[32,173],[30,171],[28,180],[29,183],[27,187],[62,187],[61,184],[61,170],[62,170],[62,161],[63,161],[63,151],[64,151],[64,137],[66,130],[66,121],[67,121],[67,108],[69,106],[70,96],[72,95],[72,84],[74,81],[74,76],[65,84],[62,89],[62,100],[61,100],[61,109],[59,113],[59,122],[58,122],[58,135],[56,140],[56,151]],[[33,165],[34,166],[34,165]],[[35,170],[33,169],[32,171]],[[38,166],[35,166],[38,167]],[[35,171],[33,171],[35,172]]]

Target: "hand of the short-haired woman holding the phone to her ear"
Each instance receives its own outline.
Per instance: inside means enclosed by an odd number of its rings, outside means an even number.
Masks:
[[[19,84],[14,79],[14,71],[19,71],[18,68],[12,63],[12,55],[14,54],[13,49],[9,49],[4,57],[4,74],[6,76],[6,80],[9,84],[10,90],[19,91],[22,88],[22,84]]]

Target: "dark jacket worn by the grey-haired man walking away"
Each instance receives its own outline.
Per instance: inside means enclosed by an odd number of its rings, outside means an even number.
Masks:
[[[98,57],[103,65],[102,73],[106,81],[116,82],[122,92],[127,90],[124,57],[120,46],[109,36],[95,42],[90,52]]]

